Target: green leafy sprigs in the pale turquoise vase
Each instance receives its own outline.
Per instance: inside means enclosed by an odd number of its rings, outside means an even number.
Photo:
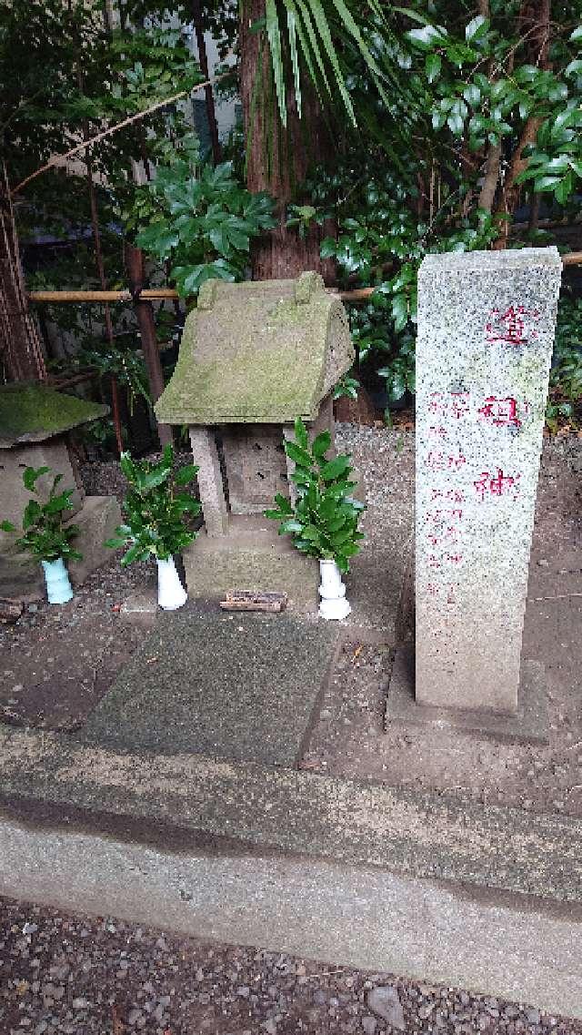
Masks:
[[[23,482],[29,493],[34,493],[37,499],[27,503],[22,522],[23,534],[16,540],[19,550],[25,550],[39,561],[81,560],[82,554],[71,545],[71,539],[79,533],[78,525],[63,525],[66,511],[72,510],[70,497],[73,489],[65,489],[57,495],[57,485],[62,480],[62,474],[56,474],[49,494],[49,499],[38,494],[36,482],[43,474],[51,474],[50,467],[27,467],[23,472]],[[3,532],[18,531],[11,522],[0,522]]]

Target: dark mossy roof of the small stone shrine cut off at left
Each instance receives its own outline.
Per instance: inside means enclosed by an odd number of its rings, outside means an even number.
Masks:
[[[0,449],[43,442],[109,413],[109,406],[65,395],[44,384],[0,386]]]

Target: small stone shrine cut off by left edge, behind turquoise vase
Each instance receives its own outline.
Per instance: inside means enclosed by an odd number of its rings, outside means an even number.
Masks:
[[[73,427],[109,413],[99,403],[65,395],[44,384],[0,386],[0,521],[21,527],[23,511],[32,498],[23,484],[27,467],[49,467],[36,489],[49,495],[55,474],[62,474],[62,489],[73,487],[70,521],[80,528],[75,546],[81,561],[70,561],[73,583],[81,583],[111,558],[103,541],[121,521],[115,497],[85,496],[81,479],[71,464],[67,434]],[[14,550],[17,534],[0,532],[0,596],[37,599],[44,592],[40,565],[28,554]]]

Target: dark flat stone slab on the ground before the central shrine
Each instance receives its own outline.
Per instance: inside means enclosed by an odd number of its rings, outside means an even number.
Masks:
[[[84,742],[294,766],[335,655],[333,623],[189,604],[155,628],[89,717]]]

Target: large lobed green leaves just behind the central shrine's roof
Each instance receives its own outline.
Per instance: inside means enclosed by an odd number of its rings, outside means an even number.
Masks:
[[[198,175],[185,162],[161,168],[149,190],[157,211],[136,238],[140,247],[171,264],[181,295],[195,295],[205,280],[241,280],[250,242],[275,226],[273,203],[235,179],[231,162]]]

